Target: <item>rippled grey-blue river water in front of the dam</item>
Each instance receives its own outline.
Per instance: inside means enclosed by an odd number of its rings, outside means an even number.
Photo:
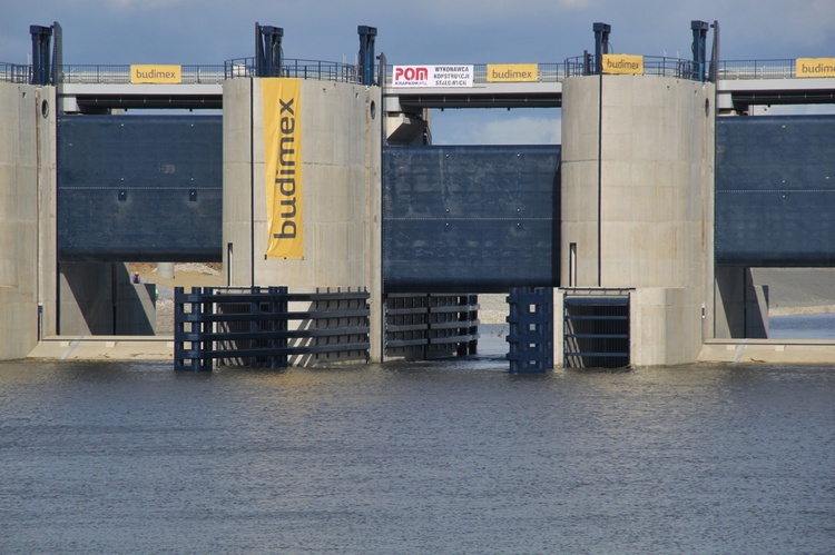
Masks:
[[[835,553],[835,369],[0,363],[0,553]]]

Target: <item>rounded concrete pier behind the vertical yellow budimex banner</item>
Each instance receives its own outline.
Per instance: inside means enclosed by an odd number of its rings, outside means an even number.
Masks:
[[[304,258],[265,259],[268,231],[261,83],[261,79],[224,83],[225,284],[288,286],[291,290],[366,287],[371,294],[371,356],[380,360],[380,89],[302,81]]]

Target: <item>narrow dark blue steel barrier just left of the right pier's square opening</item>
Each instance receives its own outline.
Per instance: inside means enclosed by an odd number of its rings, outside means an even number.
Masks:
[[[553,368],[553,288],[513,287],[508,305],[510,371],[531,374]]]

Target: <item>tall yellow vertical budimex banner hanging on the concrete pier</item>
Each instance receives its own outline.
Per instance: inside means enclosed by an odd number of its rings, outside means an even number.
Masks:
[[[267,258],[303,258],[301,79],[262,79]]]

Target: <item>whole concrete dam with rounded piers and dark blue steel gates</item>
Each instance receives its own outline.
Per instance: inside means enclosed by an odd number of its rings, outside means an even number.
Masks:
[[[124,264],[194,259],[226,287],[367,290],[373,361],[431,343],[389,333],[403,303],[515,288],[552,296],[556,366],[612,354],[583,318],[626,318],[621,366],[832,360],[767,338],[750,277],[832,264],[831,118],[749,112],[832,103],[835,76],[708,58],[710,29],[687,60],[612,53],[595,23],[559,63],[424,66],[375,56],[369,26],[357,65],[287,60],[256,24],[252,58],[98,68],[32,26],[33,63],[0,71],[0,356],[141,335],[154,291]],[[560,108],[562,145],[432,145],[431,110],[522,107]],[[177,113],[124,115],[147,108]]]

